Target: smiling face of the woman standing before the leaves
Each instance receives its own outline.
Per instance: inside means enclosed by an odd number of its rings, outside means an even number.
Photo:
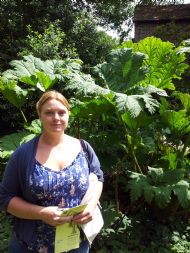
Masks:
[[[63,132],[68,125],[69,111],[59,100],[48,99],[41,107],[40,120],[43,131]]]

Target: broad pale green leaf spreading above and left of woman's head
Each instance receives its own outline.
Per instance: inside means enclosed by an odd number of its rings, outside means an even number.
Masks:
[[[69,72],[80,70],[80,60],[46,60],[42,61],[32,55],[24,56],[23,60],[10,63],[13,69],[2,73],[2,80],[17,80],[39,88],[48,90],[58,80],[63,80]]]

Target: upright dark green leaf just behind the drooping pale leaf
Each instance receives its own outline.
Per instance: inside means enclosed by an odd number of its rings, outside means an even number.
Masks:
[[[115,92],[125,92],[145,78],[148,69],[142,66],[145,55],[132,49],[113,50],[107,62],[95,67],[107,86]]]

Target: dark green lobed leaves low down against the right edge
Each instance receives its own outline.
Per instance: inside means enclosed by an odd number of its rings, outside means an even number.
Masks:
[[[147,203],[153,200],[159,208],[165,208],[177,196],[183,208],[190,206],[189,180],[183,179],[184,171],[166,171],[162,168],[148,168],[148,175],[131,172],[127,188],[130,190],[132,201],[144,196]]]

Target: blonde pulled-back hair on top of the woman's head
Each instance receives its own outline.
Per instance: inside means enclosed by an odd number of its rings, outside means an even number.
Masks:
[[[48,100],[48,99],[56,99],[60,101],[68,111],[70,111],[70,105],[67,99],[58,91],[50,90],[43,93],[41,98],[36,103],[36,111],[38,113],[38,116],[40,116],[42,105]]]

